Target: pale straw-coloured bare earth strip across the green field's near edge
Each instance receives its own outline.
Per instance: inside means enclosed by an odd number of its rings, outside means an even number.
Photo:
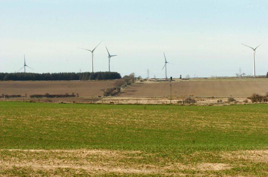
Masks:
[[[202,152],[199,152],[202,153]],[[195,163],[182,164],[177,162],[166,162],[163,164],[143,164],[142,159],[154,154],[146,154],[142,151],[115,151],[98,149],[76,149],[76,150],[0,150],[0,171],[14,168],[31,169],[31,174],[45,171],[53,175],[59,169],[73,169],[74,173],[89,174],[173,174],[187,175],[185,170],[198,171],[199,175],[208,171],[220,171],[231,169],[234,164],[232,160],[242,162],[265,162],[268,163],[268,150],[221,152],[224,159],[230,160],[226,163]],[[191,154],[190,156],[198,155]],[[131,160],[132,159],[132,160]],[[134,159],[134,160],[133,160]],[[135,161],[135,159],[141,159]],[[159,159],[165,161],[165,159]],[[173,171],[171,173],[171,171]],[[8,175],[8,174],[7,174]],[[63,174],[59,174],[63,175]]]

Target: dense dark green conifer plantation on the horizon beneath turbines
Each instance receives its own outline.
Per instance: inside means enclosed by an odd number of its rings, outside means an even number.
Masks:
[[[58,72],[58,73],[30,73],[30,72],[0,72],[0,80],[8,81],[48,81],[48,80],[113,80],[121,78],[118,72]]]

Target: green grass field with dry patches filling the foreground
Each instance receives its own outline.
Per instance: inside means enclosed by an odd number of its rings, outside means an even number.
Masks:
[[[0,175],[268,175],[268,105],[0,102]]]

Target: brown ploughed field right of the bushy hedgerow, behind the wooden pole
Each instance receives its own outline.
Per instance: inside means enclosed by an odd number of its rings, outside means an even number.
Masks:
[[[264,81],[187,81],[187,82],[146,82],[135,83],[126,88],[120,97],[248,97],[253,93],[265,95],[268,80]]]

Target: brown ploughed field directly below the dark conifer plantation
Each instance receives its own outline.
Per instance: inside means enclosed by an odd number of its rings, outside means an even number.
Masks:
[[[71,94],[80,97],[102,96],[101,89],[113,87],[114,81],[2,81],[0,94]]]

